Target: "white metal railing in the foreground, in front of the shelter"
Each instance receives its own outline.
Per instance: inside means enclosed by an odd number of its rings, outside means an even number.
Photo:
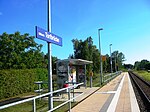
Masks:
[[[33,104],[32,104],[32,108],[33,108],[33,112],[36,112],[36,99],[39,99],[39,98],[42,98],[42,97],[46,97],[46,96],[49,96],[49,95],[53,95],[54,93],[58,93],[58,92],[61,92],[61,91],[65,91],[67,90],[68,92],[68,100],[65,101],[64,103],[52,108],[51,110],[48,110],[48,112],[51,112],[51,111],[54,111],[60,107],[62,107],[63,105],[68,104],[69,106],[69,112],[71,110],[71,101],[73,101],[74,99],[76,99],[77,97],[83,95],[84,93],[81,93],[79,94],[78,96],[75,96],[73,95],[73,97],[71,98],[71,90],[78,86],[81,86],[83,85],[84,83],[79,83],[79,84],[76,84],[76,85],[73,85],[73,86],[69,86],[69,87],[66,87],[66,88],[63,88],[63,89],[59,89],[59,90],[56,90],[56,91],[53,91],[53,92],[49,92],[49,93],[45,93],[45,94],[42,94],[42,95],[39,95],[39,96],[35,96],[35,97],[32,97],[32,98],[28,98],[28,99],[25,99],[25,100],[21,100],[21,101],[18,101],[18,102],[14,102],[14,103],[10,103],[10,104],[6,104],[4,106],[0,106],[0,110],[1,109],[5,109],[5,108],[8,108],[8,107],[11,107],[11,106],[15,106],[15,105],[18,105],[18,104],[21,104],[21,103],[25,103],[25,102],[29,102],[29,101],[33,101]]]

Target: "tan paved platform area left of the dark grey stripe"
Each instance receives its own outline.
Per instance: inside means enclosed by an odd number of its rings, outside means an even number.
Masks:
[[[99,112],[101,108],[103,108],[103,111],[105,111],[105,107],[107,108],[105,102],[107,102],[111,94],[114,94],[113,91],[116,90],[122,76],[123,75],[119,75],[107,85],[103,86],[90,97],[72,108],[71,112]],[[105,106],[103,107],[103,105]]]

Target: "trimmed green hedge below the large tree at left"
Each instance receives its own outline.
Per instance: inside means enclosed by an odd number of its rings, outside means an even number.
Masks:
[[[0,100],[33,92],[37,88],[35,81],[47,81],[47,70],[0,70]]]

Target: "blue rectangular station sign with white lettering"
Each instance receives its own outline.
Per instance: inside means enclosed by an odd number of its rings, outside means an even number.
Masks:
[[[36,38],[62,46],[62,38],[36,26]]]

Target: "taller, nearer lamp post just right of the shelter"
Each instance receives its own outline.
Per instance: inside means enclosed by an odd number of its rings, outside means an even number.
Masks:
[[[103,65],[102,65],[102,55],[101,55],[101,43],[100,43],[100,31],[103,28],[98,29],[98,36],[99,36],[99,52],[100,52],[100,84],[102,85],[102,75],[103,75]]]

